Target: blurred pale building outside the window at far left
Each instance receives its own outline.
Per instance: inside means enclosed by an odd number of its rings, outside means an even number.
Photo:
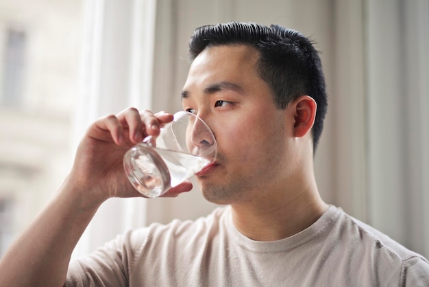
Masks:
[[[0,0],[0,257],[71,165],[82,4]]]

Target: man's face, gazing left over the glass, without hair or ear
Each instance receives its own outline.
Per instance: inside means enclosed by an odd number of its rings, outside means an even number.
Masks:
[[[245,46],[210,47],[195,58],[183,88],[182,104],[210,126],[218,156],[197,180],[204,197],[231,204],[264,196],[284,183],[288,109],[275,107],[268,84],[258,76],[259,53]]]

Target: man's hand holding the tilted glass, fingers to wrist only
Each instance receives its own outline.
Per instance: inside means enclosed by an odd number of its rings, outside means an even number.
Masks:
[[[123,155],[148,135],[159,135],[160,128],[172,120],[169,113],[139,112],[136,108],[101,117],[79,143],[66,185],[72,185],[94,204],[110,197],[143,196],[125,176]],[[177,196],[191,189],[192,184],[186,181],[163,196]]]

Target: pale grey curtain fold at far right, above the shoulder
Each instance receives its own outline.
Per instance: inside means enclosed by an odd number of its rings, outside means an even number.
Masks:
[[[429,1],[365,5],[369,222],[429,257]]]

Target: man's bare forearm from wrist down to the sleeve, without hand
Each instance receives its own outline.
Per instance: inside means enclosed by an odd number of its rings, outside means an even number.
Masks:
[[[63,185],[0,262],[4,286],[62,286],[71,253],[99,204]]]

